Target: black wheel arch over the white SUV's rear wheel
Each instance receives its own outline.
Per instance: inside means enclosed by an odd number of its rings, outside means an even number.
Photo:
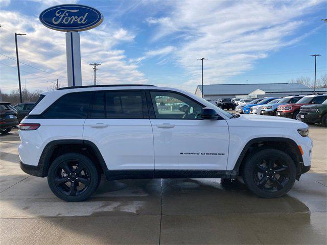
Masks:
[[[39,176],[48,176],[48,169],[53,160],[68,152],[78,152],[91,158],[101,172],[108,170],[102,154],[93,142],[82,139],[60,139],[53,140],[45,145],[38,162]]]

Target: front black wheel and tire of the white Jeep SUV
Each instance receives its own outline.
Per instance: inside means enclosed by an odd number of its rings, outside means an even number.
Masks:
[[[248,188],[262,198],[278,198],[294,185],[296,167],[283,151],[264,149],[245,160],[243,179]]]

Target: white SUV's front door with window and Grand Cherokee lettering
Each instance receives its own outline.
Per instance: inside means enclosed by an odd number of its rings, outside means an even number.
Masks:
[[[204,106],[178,92],[152,90],[148,97],[155,117],[151,118],[155,169],[226,170],[226,120],[201,119]]]

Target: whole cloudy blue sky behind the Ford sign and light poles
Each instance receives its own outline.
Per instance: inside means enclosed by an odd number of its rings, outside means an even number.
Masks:
[[[18,87],[14,33],[22,86],[66,86],[65,35],[44,27],[48,7],[78,3],[104,15],[80,33],[83,85],[92,84],[88,63],[101,63],[98,84],[164,85],[195,91],[204,84],[281,83],[327,72],[327,2],[306,1],[63,1],[0,0],[0,88]]]

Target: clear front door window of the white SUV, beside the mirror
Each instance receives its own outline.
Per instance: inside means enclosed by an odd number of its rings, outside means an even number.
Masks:
[[[201,118],[202,105],[188,97],[167,91],[150,91],[157,119]]]

